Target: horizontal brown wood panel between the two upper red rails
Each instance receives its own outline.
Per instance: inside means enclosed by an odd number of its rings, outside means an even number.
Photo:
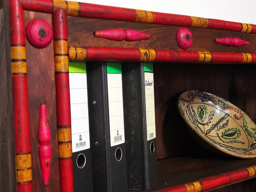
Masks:
[[[133,29],[151,35],[148,40],[135,42],[113,41],[94,37],[94,31],[106,29]],[[132,22],[120,22],[100,19],[85,19],[68,17],[69,45],[73,46],[99,46],[99,47],[122,47],[122,48],[152,48],[182,50],[176,42],[176,33],[180,27],[158,24],[140,24]],[[223,52],[253,52],[256,43],[256,35],[238,32],[228,32],[212,29],[188,28],[193,35],[193,44],[187,50],[195,51],[223,51]],[[225,36],[239,37],[248,40],[248,46],[238,48],[226,47],[214,42],[215,38]]]

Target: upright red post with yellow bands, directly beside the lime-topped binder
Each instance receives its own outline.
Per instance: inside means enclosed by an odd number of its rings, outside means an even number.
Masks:
[[[52,18],[60,189],[73,192],[67,15],[59,9],[53,12]]]

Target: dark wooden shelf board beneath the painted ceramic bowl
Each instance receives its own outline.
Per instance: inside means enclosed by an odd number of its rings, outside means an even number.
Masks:
[[[255,158],[239,159],[218,155],[163,158],[158,160],[158,186],[145,192],[156,192],[255,165]]]

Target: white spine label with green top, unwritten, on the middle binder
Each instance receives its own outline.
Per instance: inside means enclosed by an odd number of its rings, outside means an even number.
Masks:
[[[110,116],[110,146],[112,147],[125,142],[121,63],[107,63],[107,72]]]

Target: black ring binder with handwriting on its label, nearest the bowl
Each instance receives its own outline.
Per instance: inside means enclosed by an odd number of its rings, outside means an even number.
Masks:
[[[122,63],[128,188],[157,185],[153,63]]]

